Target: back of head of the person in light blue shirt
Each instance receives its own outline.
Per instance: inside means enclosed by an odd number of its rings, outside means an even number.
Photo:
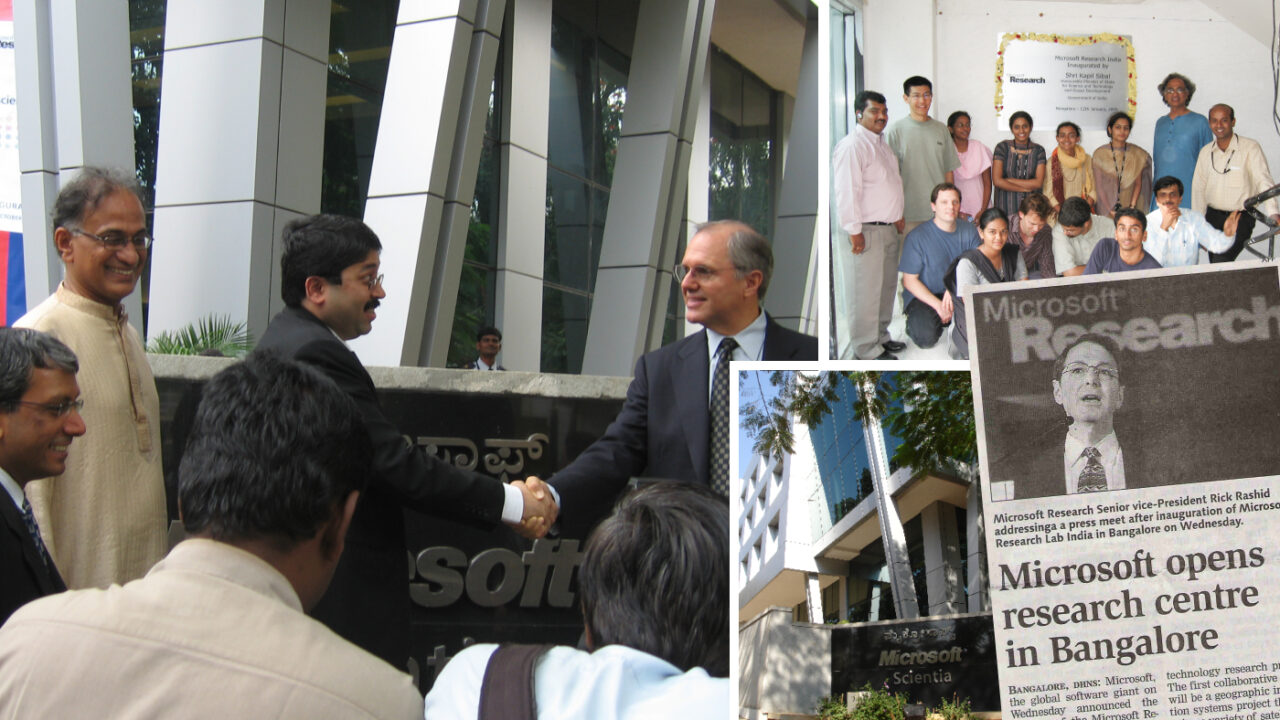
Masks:
[[[728,676],[728,505],[709,488],[655,483],[625,497],[588,541],[579,587],[591,647]]]

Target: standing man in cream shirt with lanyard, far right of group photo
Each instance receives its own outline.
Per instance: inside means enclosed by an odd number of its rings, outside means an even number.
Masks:
[[[1192,210],[1204,215],[1208,224],[1225,232],[1226,219],[1233,211],[1243,210],[1244,201],[1268,190],[1275,182],[1271,169],[1262,154],[1262,146],[1247,137],[1235,135],[1235,110],[1226,104],[1217,104],[1208,110],[1208,129],[1213,142],[1206,145],[1196,159],[1196,174],[1192,176]],[[1262,204],[1262,211],[1280,223],[1280,210],[1276,199]],[[1235,260],[1253,237],[1253,215],[1240,217],[1233,236],[1234,242],[1224,252],[1210,252],[1211,263]]]

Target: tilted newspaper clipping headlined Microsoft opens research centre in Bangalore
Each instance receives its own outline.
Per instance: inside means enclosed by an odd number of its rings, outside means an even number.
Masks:
[[[1280,719],[1277,268],[972,299],[1005,717]]]

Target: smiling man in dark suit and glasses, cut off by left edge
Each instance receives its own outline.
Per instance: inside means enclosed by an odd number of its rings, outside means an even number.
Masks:
[[[23,487],[60,475],[72,439],[84,434],[78,370],[76,354],[54,337],[0,328],[0,623],[67,589]]]

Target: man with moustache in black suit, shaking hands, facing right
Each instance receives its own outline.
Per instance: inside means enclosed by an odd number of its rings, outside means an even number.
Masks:
[[[312,615],[338,634],[403,670],[410,653],[404,516],[410,507],[481,524],[499,520],[544,534],[556,506],[532,479],[503,484],[408,446],[378,401],[376,388],[346,341],[372,329],[381,287],[381,242],[353,218],[314,215],[284,228],[280,295],[260,351],[279,352],[329,375],[360,407],[374,446],[369,488],[360,498],[347,550]]]

